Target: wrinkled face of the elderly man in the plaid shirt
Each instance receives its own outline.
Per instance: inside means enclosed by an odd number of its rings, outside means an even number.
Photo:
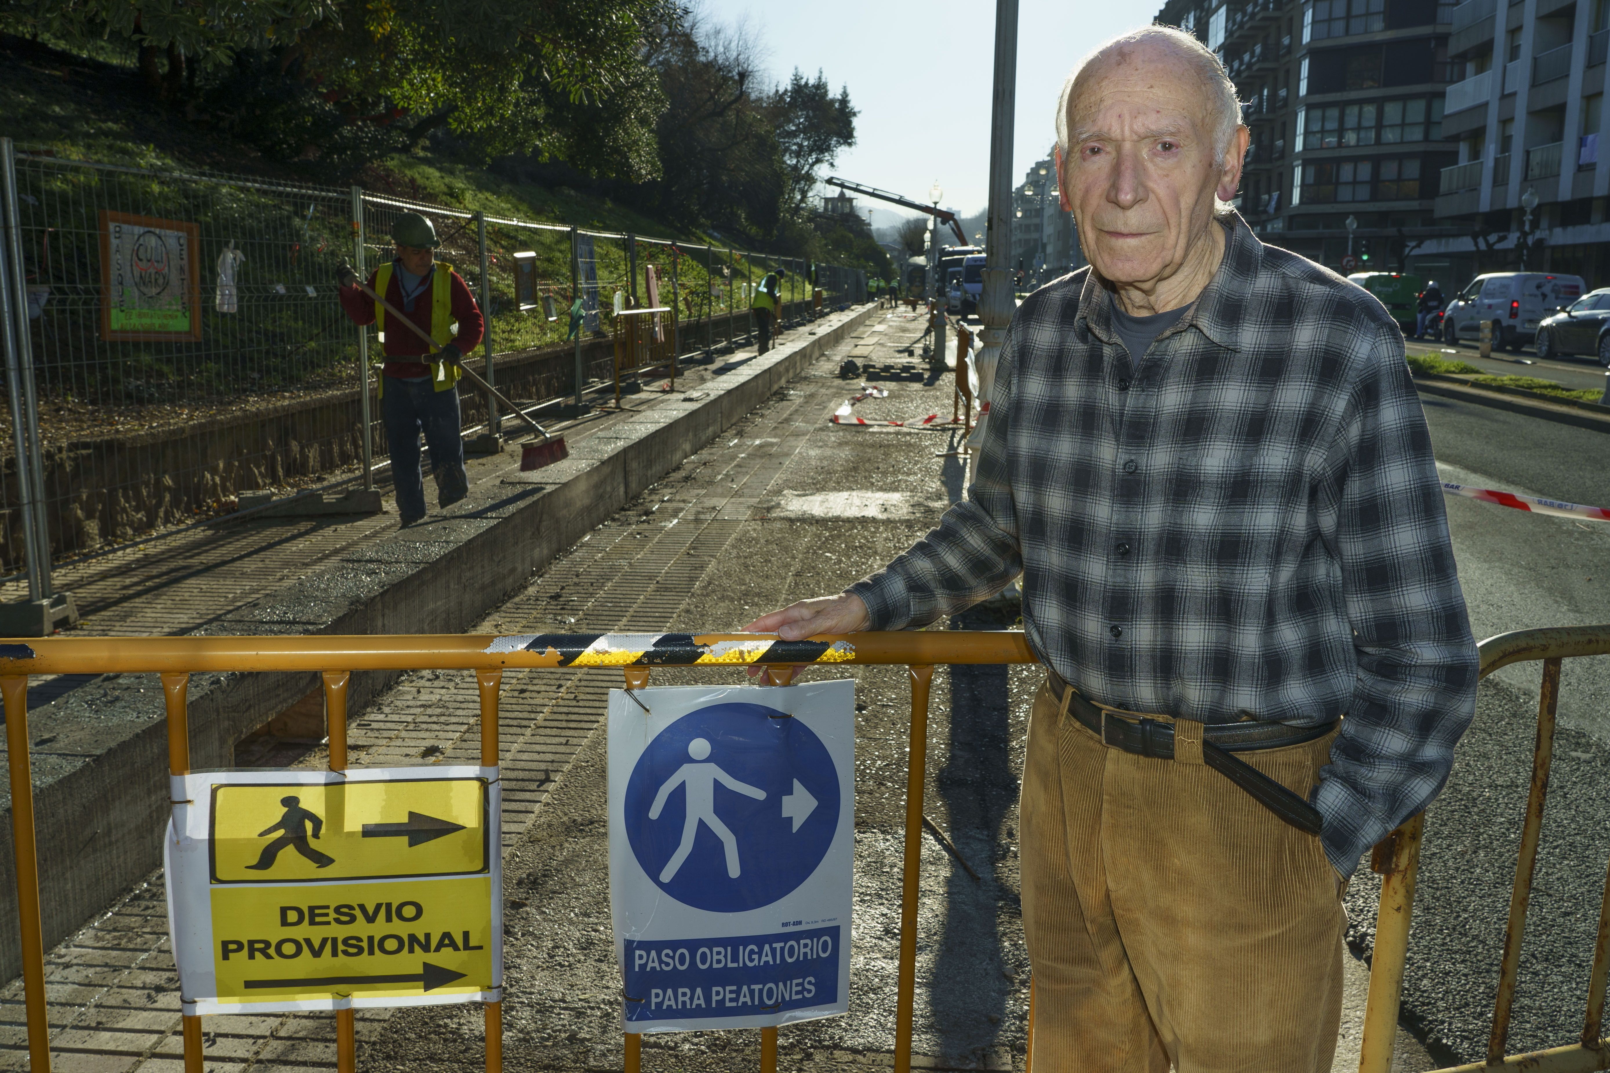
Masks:
[[[1214,195],[1235,196],[1246,132],[1219,164],[1209,101],[1195,68],[1164,43],[1116,48],[1080,72],[1067,100],[1063,199],[1106,280],[1172,275],[1208,236]]]

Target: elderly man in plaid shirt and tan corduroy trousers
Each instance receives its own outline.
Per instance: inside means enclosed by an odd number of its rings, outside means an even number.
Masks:
[[[1148,27],[1058,106],[1090,269],[1001,349],[969,499],[786,639],[932,623],[1022,573],[1035,1073],[1319,1073],[1341,893],[1436,796],[1476,650],[1402,335],[1220,204],[1248,130]]]

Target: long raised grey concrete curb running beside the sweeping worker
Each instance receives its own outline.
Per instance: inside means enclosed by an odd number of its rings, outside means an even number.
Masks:
[[[238,611],[204,634],[454,634],[546,566],[686,457],[760,405],[876,312],[863,306],[789,333],[765,357],[681,399],[572,444],[562,463],[477,486],[448,516],[361,547]],[[345,668],[330,668],[340,671]],[[399,676],[361,672],[349,716]],[[233,745],[304,697],[312,674],[195,674],[190,756],[229,767]],[[167,734],[155,674],[103,676],[29,713],[45,946],[55,946],[161,864],[167,824]],[[0,820],[0,978],[21,972],[10,791]]]

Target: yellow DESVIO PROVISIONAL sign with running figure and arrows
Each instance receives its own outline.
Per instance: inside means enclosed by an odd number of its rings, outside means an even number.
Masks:
[[[167,902],[187,1013],[501,997],[497,769],[174,783]]]

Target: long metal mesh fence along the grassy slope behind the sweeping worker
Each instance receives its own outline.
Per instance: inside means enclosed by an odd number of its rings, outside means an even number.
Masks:
[[[617,307],[675,309],[681,360],[753,341],[766,272],[784,272],[784,327],[813,315],[813,265],[795,259],[359,188],[63,161],[6,138],[0,158],[0,581],[26,568],[35,598],[52,561],[230,513],[240,492],[385,479],[383,343],[346,317],[336,265],[367,277],[388,262],[402,212],[431,220],[438,259],[486,317],[467,365],[522,409],[612,381]],[[860,301],[853,273],[815,272],[844,277],[824,309]],[[460,409],[467,436],[512,431],[473,389]]]

